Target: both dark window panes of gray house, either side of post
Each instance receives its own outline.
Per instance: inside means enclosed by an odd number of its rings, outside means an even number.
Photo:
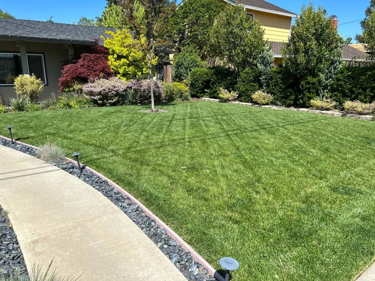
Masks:
[[[47,84],[44,56],[27,54],[28,71]],[[19,53],[0,53],[0,85],[14,85],[14,79],[23,74]]]

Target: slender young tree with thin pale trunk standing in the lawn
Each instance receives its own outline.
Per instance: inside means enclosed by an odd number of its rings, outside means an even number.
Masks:
[[[160,33],[163,24],[160,18],[168,17],[175,8],[175,2],[170,0],[139,0],[140,6],[137,7],[135,0],[121,1],[121,7],[125,11],[130,30],[134,32],[133,36],[139,41],[139,46],[147,55],[148,74],[150,79],[151,92],[151,111],[155,111],[153,95],[153,75],[152,65],[155,58],[155,52],[159,47],[165,46],[165,36]],[[142,7],[142,10],[140,11]]]

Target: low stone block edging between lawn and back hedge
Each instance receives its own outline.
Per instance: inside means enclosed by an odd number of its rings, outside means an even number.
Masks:
[[[208,97],[202,98],[202,100],[206,100],[209,102],[221,102],[222,100],[219,99],[210,99]],[[229,102],[233,103],[234,105],[246,105],[246,106],[255,106],[261,108],[271,108],[271,109],[279,109],[279,110],[294,110],[294,111],[302,111],[302,112],[310,112],[310,113],[317,113],[317,114],[324,114],[336,117],[347,117],[347,118],[356,118],[362,120],[369,120],[374,121],[374,115],[359,115],[359,114],[348,114],[346,112],[338,112],[338,111],[326,111],[326,110],[315,110],[309,108],[293,108],[293,107],[284,107],[284,106],[273,106],[273,105],[258,105],[257,103],[249,103],[249,102]]]

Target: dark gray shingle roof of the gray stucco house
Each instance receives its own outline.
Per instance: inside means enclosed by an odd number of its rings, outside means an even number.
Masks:
[[[0,40],[98,45],[94,40],[98,39],[102,45],[101,35],[106,37],[105,30],[116,31],[114,28],[0,18]]]

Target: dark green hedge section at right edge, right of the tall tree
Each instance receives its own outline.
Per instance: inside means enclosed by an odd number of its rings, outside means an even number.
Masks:
[[[374,102],[375,67],[343,66],[330,91],[330,98],[341,104],[347,100]]]

